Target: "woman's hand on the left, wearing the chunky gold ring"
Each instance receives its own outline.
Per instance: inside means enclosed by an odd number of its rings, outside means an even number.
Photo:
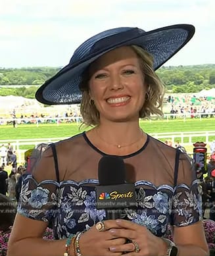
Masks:
[[[123,251],[110,251],[110,247],[121,247],[126,238],[112,235],[108,230],[120,228],[116,220],[105,220],[104,231],[98,231],[96,225],[84,232],[80,237],[80,251],[83,256],[120,256]]]

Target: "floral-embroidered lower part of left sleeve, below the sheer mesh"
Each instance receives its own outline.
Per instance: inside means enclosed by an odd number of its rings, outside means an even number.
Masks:
[[[57,211],[59,184],[54,180],[37,183],[32,175],[22,180],[17,212],[27,218],[50,222]]]

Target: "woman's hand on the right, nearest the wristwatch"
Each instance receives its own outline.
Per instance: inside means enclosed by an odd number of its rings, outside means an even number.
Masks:
[[[111,246],[111,252],[125,252],[124,255],[159,256],[166,254],[166,243],[153,235],[145,226],[140,226],[129,220],[116,220],[118,228],[110,228],[108,232],[116,238],[127,238],[131,243],[121,243]]]

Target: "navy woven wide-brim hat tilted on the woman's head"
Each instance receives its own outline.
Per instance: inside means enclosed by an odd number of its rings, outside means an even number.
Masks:
[[[80,103],[82,74],[104,53],[124,45],[138,45],[153,55],[156,70],[175,55],[194,32],[194,26],[189,24],[166,26],[149,32],[140,28],[113,28],[101,32],[74,51],[70,63],[37,90],[36,99],[47,105]]]

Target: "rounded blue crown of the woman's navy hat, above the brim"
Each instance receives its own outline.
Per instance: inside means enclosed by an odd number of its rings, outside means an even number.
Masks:
[[[112,28],[110,30],[105,30],[91,38],[87,39],[82,43],[70,59],[70,65],[76,65],[83,61],[85,57],[89,57],[89,55],[94,55],[99,53],[99,51],[104,51],[110,47],[110,44],[117,42],[119,44],[120,41],[124,42],[126,39],[134,38],[135,36],[139,36],[140,34],[145,33],[144,30],[139,28],[130,28],[130,27],[120,27],[120,28]]]

